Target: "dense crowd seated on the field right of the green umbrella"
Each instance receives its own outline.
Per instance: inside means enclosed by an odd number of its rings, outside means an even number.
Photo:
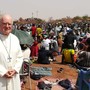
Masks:
[[[34,39],[30,46],[31,61],[36,58],[36,63],[50,64],[57,55],[62,55],[61,64],[80,70],[90,68],[90,23],[48,24],[46,28],[32,24],[29,31]]]

